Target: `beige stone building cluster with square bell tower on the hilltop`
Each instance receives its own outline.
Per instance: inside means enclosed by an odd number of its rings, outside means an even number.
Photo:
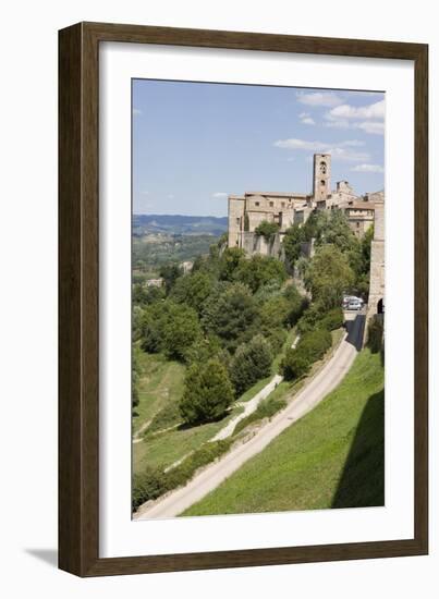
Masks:
[[[383,192],[358,196],[347,181],[338,181],[331,191],[331,155],[315,154],[310,194],[245,192],[229,196],[229,247],[242,247],[248,255],[279,257],[286,229],[306,222],[313,210],[337,208],[344,211],[351,229],[362,237],[374,223],[376,200],[383,200]],[[255,233],[263,221],[279,225],[270,243]]]

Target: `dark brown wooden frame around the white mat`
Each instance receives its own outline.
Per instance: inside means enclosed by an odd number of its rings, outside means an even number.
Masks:
[[[99,44],[123,41],[414,61],[414,538],[99,558]],[[420,555],[428,551],[428,47],[419,44],[80,23],[59,33],[59,566],[78,576]]]

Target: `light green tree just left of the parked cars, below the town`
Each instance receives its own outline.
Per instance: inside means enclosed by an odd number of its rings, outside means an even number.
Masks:
[[[305,285],[325,309],[341,304],[344,291],[354,283],[354,273],[345,255],[334,245],[316,250],[305,273]]]

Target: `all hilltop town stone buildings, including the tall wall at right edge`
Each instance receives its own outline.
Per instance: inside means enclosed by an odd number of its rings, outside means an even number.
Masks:
[[[315,154],[313,192],[245,192],[229,195],[229,247],[239,247],[247,256],[260,254],[283,257],[282,242],[294,224],[304,224],[319,210],[341,210],[353,233],[362,239],[374,224],[370,248],[370,284],[367,320],[383,313],[385,297],[385,192],[358,195],[347,181],[338,181],[331,190],[331,155]],[[260,234],[264,223],[273,225],[270,236]],[[303,244],[303,254],[314,255],[313,240]]]

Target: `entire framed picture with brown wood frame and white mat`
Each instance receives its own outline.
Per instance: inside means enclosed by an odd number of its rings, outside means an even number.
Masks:
[[[427,553],[427,61],[60,32],[62,570]]]

